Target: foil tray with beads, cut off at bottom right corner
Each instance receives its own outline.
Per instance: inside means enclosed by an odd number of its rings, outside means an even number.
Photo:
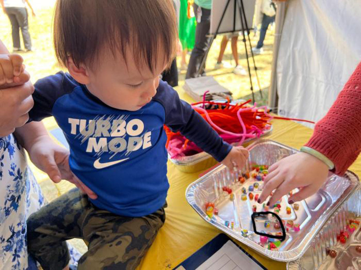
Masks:
[[[361,269],[361,230],[360,226],[355,231],[347,228],[350,220],[361,223],[361,190],[357,188],[347,201],[329,218],[326,224],[311,241],[305,254],[298,260],[288,262],[288,270],[354,270]],[[346,243],[338,241],[341,231],[346,231],[349,238]],[[336,251],[332,258],[330,250]],[[357,251],[358,250],[358,251]]]

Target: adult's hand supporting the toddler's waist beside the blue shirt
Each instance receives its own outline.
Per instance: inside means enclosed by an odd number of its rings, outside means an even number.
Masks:
[[[31,145],[28,152],[36,167],[47,173],[54,183],[66,179],[91,199],[97,198],[97,195],[70,170],[68,149],[57,145],[48,136],[41,136]]]

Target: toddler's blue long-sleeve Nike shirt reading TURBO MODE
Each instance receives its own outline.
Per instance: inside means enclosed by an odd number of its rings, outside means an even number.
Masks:
[[[163,125],[181,131],[218,161],[231,146],[178,93],[160,81],[137,111],[114,109],[68,73],[38,80],[29,121],[54,116],[70,146],[70,169],[110,212],[139,217],[165,204],[169,188]]]

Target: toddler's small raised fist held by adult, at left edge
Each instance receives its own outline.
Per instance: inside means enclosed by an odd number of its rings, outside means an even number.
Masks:
[[[0,85],[19,82],[19,76],[24,69],[20,55],[0,55]]]

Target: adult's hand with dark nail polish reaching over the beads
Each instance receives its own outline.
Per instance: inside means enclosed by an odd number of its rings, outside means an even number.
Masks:
[[[327,180],[329,167],[308,153],[297,153],[276,162],[268,169],[264,187],[258,203],[271,194],[267,205],[274,205],[283,195],[299,188],[300,191],[288,198],[290,204],[306,199],[316,193]]]

